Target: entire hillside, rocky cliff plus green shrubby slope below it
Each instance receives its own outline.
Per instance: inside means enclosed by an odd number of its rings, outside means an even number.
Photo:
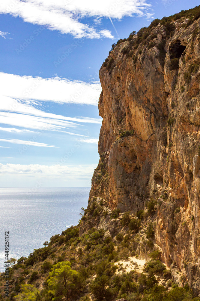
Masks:
[[[112,45],[88,207],[10,268],[8,299],[1,275],[1,300],[199,300],[199,67],[200,6]]]

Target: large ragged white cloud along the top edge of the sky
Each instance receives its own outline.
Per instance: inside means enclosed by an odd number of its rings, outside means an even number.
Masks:
[[[70,33],[76,38],[101,38],[103,33],[81,18],[122,19],[133,14],[142,16],[150,7],[145,0],[0,0],[0,13],[21,17],[25,22],[47,26],[50,30]],[[113,36],[107,35],[109,38]]]

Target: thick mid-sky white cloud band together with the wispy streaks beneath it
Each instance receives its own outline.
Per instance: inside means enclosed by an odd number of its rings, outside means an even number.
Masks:
[[[69,81],[68,79],[34,78],[0,72],[0,122],[4,125],[26,127],[27,129],[3,128],[7,132],[31,132],[28,129],[42,129],[75,134],[66,129],[82,126],[80,123],[101,124],[101,118],[68,117],[40,110],[41,102],[59,104],[79,103],[96,105],[101,92],[100,83]],[[10,88],[12,87],[12,88]],[[40,101],[40,103],[37,103]]]

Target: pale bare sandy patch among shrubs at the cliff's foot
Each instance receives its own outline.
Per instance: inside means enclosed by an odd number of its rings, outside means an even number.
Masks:
[[[147,261],[143,259],[138,259],[135,256],[129,257],[125,260],[120,260],[116,262],[116,264],[119,266],[119,269],[117,271],[117,274],[122,274],[123,272],[129,273],[130,271],[136,270],[139,273],[143,272],[144,265]]]

